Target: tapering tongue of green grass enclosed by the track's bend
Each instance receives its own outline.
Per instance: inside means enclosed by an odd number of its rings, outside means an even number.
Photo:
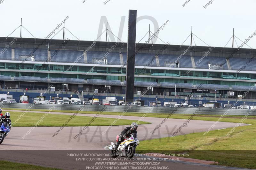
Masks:
[[[21,115],[20,112],[10,112],[12,123]],[[42,117],[42,116],[45,116]],[[55,114],[43,114],[43,113],[26,113],[19,121],[14,125],[15,127],[30,127],[35,125],[40,118],[42,118],[41,122],[39,122],[38,126],[62,126],[68,119],[70,115],[55,115]],[[97,116],[96,116],[97,117]],[[67,126],[85,126],[88,122],[92,120],[92,117],[89,116],[75,116]],[[100,118],[97,117],[94,122],[91,123],[90,126],[109,126],[114,118]],[[115,125],[129,125],[132,122],[136,122],[135,120],[126,120],[126,119],[118,119]],[[140,124],[148,124],[149,122],[140,122]]]

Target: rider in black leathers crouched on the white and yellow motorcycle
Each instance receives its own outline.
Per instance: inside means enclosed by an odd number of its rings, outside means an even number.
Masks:
[[[116,147],[114,148],[114,150],[116,151],[119,144],[121,144],[125,138],[131,137],[132,133],[137,133],[137,129],[138,129],[138,124],[135,122],[132,122],[131,126],[127,126],[126,128],[124,128],[124,130],[121,132],[121,135],[119,135],[119,138],[118,138],[118,141],[116,143]]]

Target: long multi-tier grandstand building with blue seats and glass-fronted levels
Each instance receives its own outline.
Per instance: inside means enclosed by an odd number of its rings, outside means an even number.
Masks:
[[[26,92],[32,99],[53,85],[57,92],[47,92],[47,100],[57,94],[123,100],[127,43],[16,38],[10,46],[13,39],[0,37],[2,93],[8,91],[19,101]],[[190,94],[193,105],[215,99],[227,104],[248,90],[243,101],[256,102],[256,63],[252,60],[256,50],[180,45],[162,50],[163,46],[136,44],[134,91],[139,95],[153,87],[141,97],[144,104],[152,100],[180,102]],[[76,96],[75,91],[83,93]]]

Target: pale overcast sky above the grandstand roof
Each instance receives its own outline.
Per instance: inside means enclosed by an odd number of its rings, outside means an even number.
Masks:
[[[122,33],[121,40],[127,42],[128,10],[137,10],[137,17],[154,18],[159,27],[166,20],[170,22],[159,33],[164,42],[180,45],[188,37],[193,26],[193,33],[214,47],[224,47],[232,36],[244,40],[256,30],[255,4],[253,0],[213,0],[206,9],[203,7],[208,0],[190,0],[184,7],[186,0],[111,0],[103,4],[104,0],[4,0],[0,4],[1,27],[0,36],[9,35],[15,28],[22,25],[36,38],[47,36],[64,18],[69,16],[65,26],[80,40],[94,41],[97,38],[100,20],[106,16],[112,32],[117,36]],[[124,29],[119,33],[121,18],[124,20]],[[103,21],[103,20],[102,20]],[[136,42],[148,32],[154,32],[154,23],[143,19],[137,23]],[[156,24],[156,23],[155,23]],[[122,24],[121,24],[122,26]],[[122,27],[121,27],[122,28]],[[106,29],[103,25],[103,30]],[[17,30],[11,37],[20,37]],[[32,37],[24,29],[22,37]],[[98,41],[105,41],[104,33]],[[66,33],[66,38],[76,40]],[[111,38],[111,37],[110,37]],[[143,39],[146,41],[148,35]],[[62,39],[62,32],[54,37]],[[111,41],[111,40],[110,40]],[[117,41],[117,39],[115,39]],[[195,37],[196,45],[204,45]],[[156,43],[163,42],[157,40]],[[237,40],[238,46],[242,42]],[[184,43],[190,44],[190,40]],[[193,42],[194,44],[194,42]],[[235,43],[236,44],[236,43]],[[256,37],[248,45],[256,48]],[[227,47],[231,47],[230,41]]]

